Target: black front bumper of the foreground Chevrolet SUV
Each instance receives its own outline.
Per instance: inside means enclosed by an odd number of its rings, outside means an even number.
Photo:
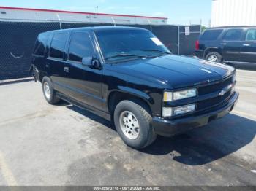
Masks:
[[[207,125],[211,120],[224,117],[226,114],[231,112],[238,101],[238,97],[239,94],[234,93],[225,106],[220,106],[219,108],[214,109],[214,111],[206,112],[206,114],[201,114],[199,116],[190,116],[178,120],[165,120],[159,117],[154,117],[154,130],[157,134],[162,136],[174,136],[179,133],[184,133],[187,130]]]

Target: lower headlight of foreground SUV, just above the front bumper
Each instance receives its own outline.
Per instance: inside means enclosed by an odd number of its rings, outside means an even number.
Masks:
[[[178,106],[178,107],[163,107],[162,117],[171,117],[174,115],[186,114],[194,111],[195,111],[195,104],[189,104],[186,106]]]

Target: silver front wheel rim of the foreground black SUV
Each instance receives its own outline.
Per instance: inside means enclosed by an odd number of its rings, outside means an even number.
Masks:
[[[121,112],[119,117],[120,127],[124,135],[129,139],[137,139],[140,133],[140,125],[132,112]]]

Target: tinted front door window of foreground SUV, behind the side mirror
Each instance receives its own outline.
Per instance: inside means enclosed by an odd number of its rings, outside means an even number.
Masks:
[[[84,57],[93,53],[91,37],[86,32],[75,32],[72,34],[69,45],[69,61],[82,62]]]

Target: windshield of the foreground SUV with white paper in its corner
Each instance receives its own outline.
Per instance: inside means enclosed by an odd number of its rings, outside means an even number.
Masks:
[[[148,58],[170,54],[170,51],[150,31],[106,30],[96,31],[105,60]]]

